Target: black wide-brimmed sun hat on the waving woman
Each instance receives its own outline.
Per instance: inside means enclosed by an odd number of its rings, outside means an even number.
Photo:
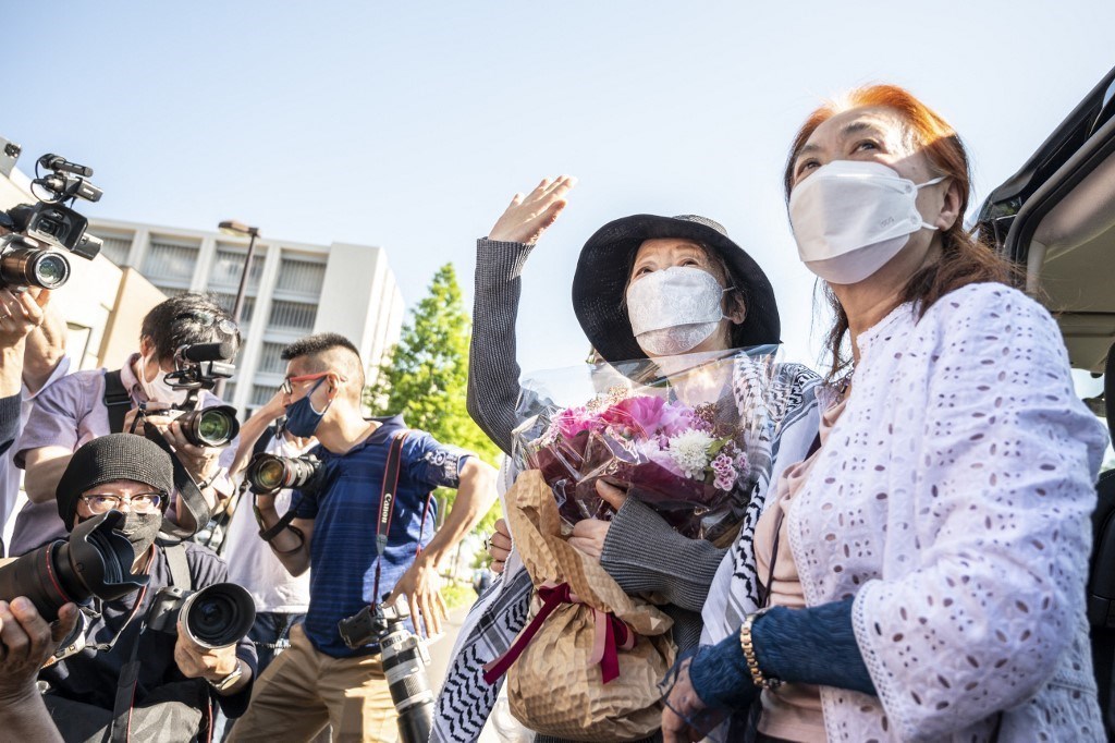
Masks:
[[[597,230],[581,249],[573,274],[573,311],[604,360],[647,358],[631,332],[623,292],[639,245],[661,238],[699,242],[724,259],[733,286],[744,295],[747,311],[744,321],[733,328],[734,347],[779,342],[782,321],[770,280],[755,259],[728,238],[723,225],[696,214],[633,214]]]

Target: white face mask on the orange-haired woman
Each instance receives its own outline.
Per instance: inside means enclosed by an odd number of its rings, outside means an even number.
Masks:
[[[789,196],[797,254],[830,283],[856,283],[883,268],[918,230],[935,230],[918,211],[915,184],[882,163],[836,160]]]

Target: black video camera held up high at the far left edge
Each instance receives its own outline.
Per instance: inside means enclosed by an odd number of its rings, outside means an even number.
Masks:
[[[0,138],[0,174],[10,175],[21,153],[19,145]],[[43,172],[48,172],[43,174]],[[103,191],[86,178],[93,168],[61,155],[46,154],[35,163],[31,193],[35,204],[0,212],[0,286],[57,289],[69,279],[69,261],[61,250],[93,260],[101,241],[86,233],[89,220],[65,205],[78,199],[100,200]]]

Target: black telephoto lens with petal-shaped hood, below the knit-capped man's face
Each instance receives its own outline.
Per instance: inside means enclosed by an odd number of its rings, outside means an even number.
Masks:
[[[69,541],[59,539],[0,568],[0,599],[26,596],[47,621],[70,601],[94,596],[112,601],[147,585],[132,575],[135,551],[124,534],[124,514],[109,511],[75,527]]]

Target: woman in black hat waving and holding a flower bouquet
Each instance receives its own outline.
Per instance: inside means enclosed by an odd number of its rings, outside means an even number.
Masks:
[[[545,178],[533,192],[516,194],[488,237],[477,243],[474,329],[468,411],[505,452],[521,423],[522,389],[515,360],[515,320],[521,273],[533,245],[564,209],[575,184],[570,176]],[[609,363],[715,354],[777,344],[778,309],[769,280],[721,225],[701,216],[637,214],[598,230],[585,243],[573,279],[573,307],[589,341]],[[779,373],[795,401],[778,422],[780,448],[801,456],[817,430],[816,376],[797,365]],[[774,447],[777,451],[777,446]],[[801,450],[801,451],[798,451]],[[770,467],[759,473],[756,500],[740,533],[754,528]],[[506,472],[507,479],[512,473]],[[504,483],[510,484],[510,483]],[[696,646],[700,609],[725,554],[721,547],[678,534],[644,504],[607,483],[598,491],[617,513],[611,521],[579,522],[570,544],[597,558],[629,594],[653,592],[669,602],[679,649]],[[489,542],[494,568],[507,575],[471,612],[456,659],[438,702],[433,740],[473,740],[494,703],[494,691],[469,663],[502,653],[522,628],[530,579],[515,570],[505,524]],[[730,567],[730,566],[729,566]],[[447,721],[453,717],[454,724]],[[475,730],[474,730],[475,728]],[[473,731],[469,733],[469,731]]]

